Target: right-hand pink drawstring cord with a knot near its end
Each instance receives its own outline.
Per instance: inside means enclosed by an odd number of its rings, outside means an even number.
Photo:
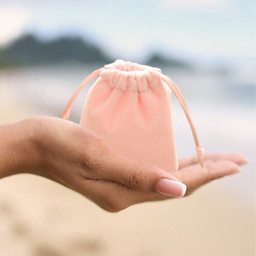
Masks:
[[[204,162],[203,162],[203,153],[204,153],[204,148],[202,145],[199,144],[199,139],[197,136],[197,132],[196,132],[196,128],[195,125],[190,117],[190,114],[188,112],[188,108],[186,105],[186,102],[180,92],[180,89],[176,86],[176,84],[172,81],[172,79],[170,79],[169,77],[165,76],[165,75],[161,75],[162,80],[167,84],[167,86],[170,88],[170,90],[174,93],[175,97],[177,98],[177,100],[179,101],[181,108],[183,109],[186,117],[187,117],[187,121],[190,125],[191,131],[193,133],[193,137],[196,143],[196,152],[197,152],[197,158],[198,158],[198,162],[201,164],[201,167],[204,167]]]

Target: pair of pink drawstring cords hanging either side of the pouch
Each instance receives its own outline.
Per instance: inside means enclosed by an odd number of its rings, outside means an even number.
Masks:
[[[69,119],[70,116],[70,112],[72,110],[72,106],[77,98],[77,96],[79,95],[79,93],[82,91],[82,89],[84,87],[86,87],[86,85],[93,80],[94,78],[100,76],[100,72],[102,70],[104,70],[105,68],[101,68],[98,70],[95,70],[93,73],[91,73],[86,79],[84,79],[82,81],[82,83],[80,84],[80,86],[75,90],[74,94],[72,95],[72,97],[70,98],[68,104],[66,105],[65,109],[63,110],[62,114],[61,114],[61,118],[63,119]],[[191,127],[191,131],[193,133],[194,136],[194,140],[196,143],[196,152],[197,152],[197,157],[198,157],[198,162],[201,164],[201,167],[204,167],[204,162],[203,162],[203,153],[204,153],[204,149],[203,146],[199,144],[199,140],[198,140],[198,136],[197,136],[197,132],[196,132],[196,128],[194,126],[193,121],[191,120],[190,114],[188,112],[188,108],[186,105],[186,102],[179,90],[179,88],[176,86],[176,84],[167,76],[162,75],[161,74],[161,78],[162,80],[167,84],[167,86],[169,87],[169,89],[174,93],[175,97],[178,99],[186,117],[187,117],[187,121]]]

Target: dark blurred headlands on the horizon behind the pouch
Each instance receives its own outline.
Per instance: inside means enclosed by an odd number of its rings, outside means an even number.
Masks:
[[[121,58],[121,57],[120,57]],[[0,69],[8,67],[41,66],[58,63],[95,64],[114,62],[98,46],[89,44],[81,37],[66,36],[51,41],[42,41],[33,34],[26,34],[11,44],[0,48]],[[190,69],[190,64],[176,58],[152,53],[145,64],[148,66],[168,66]]]

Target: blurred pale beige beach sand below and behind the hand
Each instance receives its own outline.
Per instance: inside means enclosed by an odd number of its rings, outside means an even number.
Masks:
[[[3,91],[0,105],[0,124],[45,114]],[[55,182],[16,175],[0,180],[0,255],[253,256],[255,212],[209,184],[111,214]]]

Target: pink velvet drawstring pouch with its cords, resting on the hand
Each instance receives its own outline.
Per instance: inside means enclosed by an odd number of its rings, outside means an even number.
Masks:
[[[173,92],[190,124],[203,167],[203,147],[186,103],[175,83],[160,69],[123,60],[105,65],[80,84],[61,118],[69,118],[76,97],[96,77],[80,125],[96,133],[114,152],[172,172],[178,169],[170,97]]]

